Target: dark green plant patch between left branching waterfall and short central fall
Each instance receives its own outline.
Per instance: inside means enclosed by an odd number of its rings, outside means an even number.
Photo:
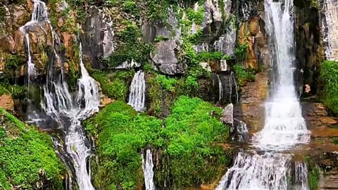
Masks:
[[[109,98],[126,101],[128,88],[134,70],[121,70],[116,72],[100,72],[94,71],[92,77],[101,84],[101,89]]]

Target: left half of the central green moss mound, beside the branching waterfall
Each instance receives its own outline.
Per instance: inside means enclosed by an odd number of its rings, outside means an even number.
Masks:
[[[88,124],[89,123],[89,124]],[[94,184],[100,189],[136,189],[143,182],[140,151],[146,144],[157,144],[161,134],[161,120],[137,115],[122,101],[106,106],[91,121],[97,124],[97,154],[100,164],[94,175]],[[92,127],[89,127],[93,131]]]

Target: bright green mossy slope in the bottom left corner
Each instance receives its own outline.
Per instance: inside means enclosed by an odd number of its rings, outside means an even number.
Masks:
[[[62,189],[65,167],[56,157],[48,135],[2,108],[0,121],[0,187],[10,189],[10,182],[22,189],[34,189],[43,171],[51,189]]]

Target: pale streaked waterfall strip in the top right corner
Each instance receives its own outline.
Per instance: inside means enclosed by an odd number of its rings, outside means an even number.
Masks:
[[[325,56],[327,60],[338,61],[338,1],[324,0],[325,18],[322,22],[322,32],[325,34]]]

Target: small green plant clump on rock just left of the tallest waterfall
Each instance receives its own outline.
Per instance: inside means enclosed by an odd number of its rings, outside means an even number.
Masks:
[[[255,70],[253,69],[244,69],[242,65],[233,65],[232,70],[234,70],[234,75],[237,79],[237,82],[240,87],[244,87],[247,82],[255,81]]]

